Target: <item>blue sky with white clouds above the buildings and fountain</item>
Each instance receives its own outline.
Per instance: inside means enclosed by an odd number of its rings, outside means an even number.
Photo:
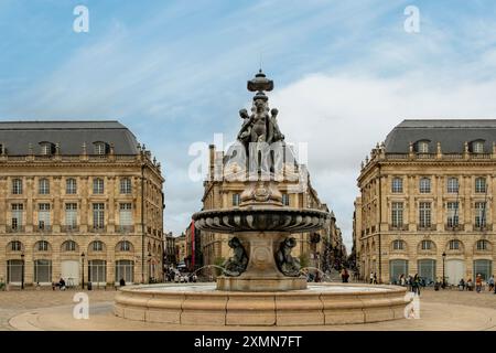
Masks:
[[[89,11],[89,32],[73,13]],[[405,31],[408,6],[420,32]],[[260,65],[351,248],[360,161],[406,118],[496,118],[496,3],[0,0],[0,119],[118,119],[161,161],[165,229],[201,208],[192,143],[235,137]]]

